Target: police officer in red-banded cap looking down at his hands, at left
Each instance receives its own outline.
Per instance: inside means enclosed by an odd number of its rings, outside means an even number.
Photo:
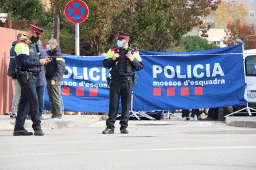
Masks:
[[[21,87],[20,103],[14,127],[14,136],[30,136],[33,133],[24,128],[25,119],[30,113],[32,127],[35,136],[43,136],[38,106],[38,95],[36,93],[36,82],[40,73],[40,65],[48,63],[48,59],[40,59],[38,41],[44,30],[35,25],[30,25],[26,35],[22,35],[15,46],[16,78]]]

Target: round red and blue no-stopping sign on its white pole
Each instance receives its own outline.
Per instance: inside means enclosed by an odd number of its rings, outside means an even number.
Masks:
[[[88,17],[89,9],[85,2],[72,0],[67,2],[65,7],[65,16],[69,22],[75,24],[75,55],[80,55],[79,51],[79,23],[85,21]]]

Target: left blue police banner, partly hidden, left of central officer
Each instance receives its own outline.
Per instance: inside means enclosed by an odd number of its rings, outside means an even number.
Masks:
[[[64,57],[67,55],[64,55]],[[106,78],[109,69],[103,67],[104,57],[66,58],[61,94],[65,111],[108,112],[109,88]],[[45,106],[50,109],[47,92]]]

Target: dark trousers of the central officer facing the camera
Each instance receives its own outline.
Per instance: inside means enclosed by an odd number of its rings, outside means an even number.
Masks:
[[[132,95],[132,89],[134,87],[134,81],[131,76],[123,78],[112,78],[109,90],[109,111],[108,119],[106,120],[106,126],[109,129],[114,130],[114,123],[119,110],[119,100],[121,96],[122,114],[120,123],[121,129],[128,127],[128,121],[130,116],[130,99]]]

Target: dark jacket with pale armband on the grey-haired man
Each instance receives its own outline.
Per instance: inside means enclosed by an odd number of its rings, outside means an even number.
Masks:
[[[45,65],[46,68],[46,79],[54,80],[54,81],[62,81],[63,75],[65,73],[65,59],[61,54],[61,48],[59,46],[56,49],[51,51],[47,51],[47,54],[51,57],[51,62]]]

